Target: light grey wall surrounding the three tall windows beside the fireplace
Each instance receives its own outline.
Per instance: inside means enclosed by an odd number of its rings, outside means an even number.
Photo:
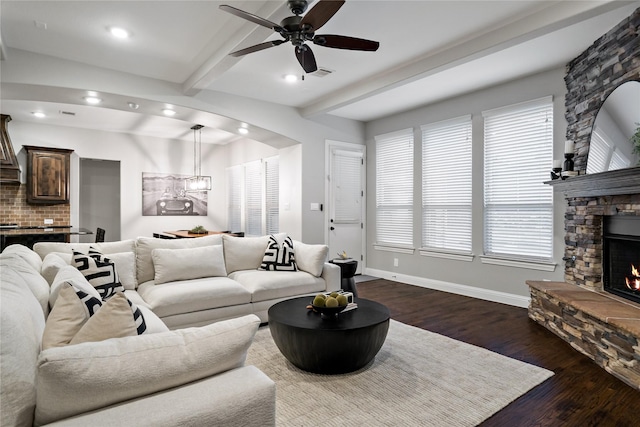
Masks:
[[[555,271],[545,272],[526,268],[482,264],[477,255],[483,253],[483,120],[481,112],[552,95],[554,99],[554,158],[562,158],[566,132],[564,119],[564,68],[551,70],[517,81],[481,90],[469,95],[449,99],[434,105],[386,117],[366,125],[367,139],[367,269],[383,277],[395,276],[399,280],[435,288],[450,288],[458,293],[469,291],[474,296],[491,300],[504,300],[518,305],[526,304],[528,287],[525,280],[563,280],[564,267],[564,199],[554,194],[554,261]],[[470,76],[469,78],[473,78]],[[401,254],[373,249],[375,242],[375,164],[374,136],[400,129],[419,129],[423,124],[472,115],[473,124],[473,253],[472,262],[456,261]],[[418,139],[419,141],[419,139]],[[549,165],[549,170],[551,170]],[[517,171],[514,171],[517,173]],[[452,184],[455,173],[451,175]],[[420,177],[416,176],[416,185]],[[419,200],[419,199],[418,199]],[[419,202],[414,206],[414,218],[420,218]],[[416,223],[419,224],[419,221]],[[420,246],[420,232],[415,230],[414,244]],[[393,260],[398,258],[398,267]],[[462,285],[460,287],[460,285]],[[465,287],[472,287],[467,289]],[[515,296],[512,298],[511,296]]]

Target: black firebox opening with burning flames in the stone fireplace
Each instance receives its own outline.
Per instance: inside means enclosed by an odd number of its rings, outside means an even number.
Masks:
[[[640,217],[605,217],[604,290],[640,303]]]

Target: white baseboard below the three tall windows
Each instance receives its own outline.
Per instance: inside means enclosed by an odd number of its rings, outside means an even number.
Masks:
[[[499,302],[501,304],[512,305],[515,307],[529,307],[529,297],[522,295],[509,294],[506,292],[492,291],[491,289],[476,288],[473,286],[460,285],[457,283],[443,282],[441,280],[426,279],[424,277],[409,276],[406,274],[398,274],[391,271],[377,270],[374,268],[365,268],[364,274],[381,279],[392,280],[396,282],[408,283],[410,285],[421,286],[423,288],[435,289],[438,291],[449,292],[452,294],[464,295],[468,297],[483,299],[486,301]]]

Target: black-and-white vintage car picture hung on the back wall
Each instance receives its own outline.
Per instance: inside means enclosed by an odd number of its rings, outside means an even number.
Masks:
[[[186,192],[190,175],[142,173],[142,215],[207,215],[208,193]]]

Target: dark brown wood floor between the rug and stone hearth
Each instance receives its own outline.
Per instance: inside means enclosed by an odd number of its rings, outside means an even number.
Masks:
[[[382,279],[357,286],[395,320],[554,372],[481,426],[640,426],[640,391],[530,320],[524,308]]]

